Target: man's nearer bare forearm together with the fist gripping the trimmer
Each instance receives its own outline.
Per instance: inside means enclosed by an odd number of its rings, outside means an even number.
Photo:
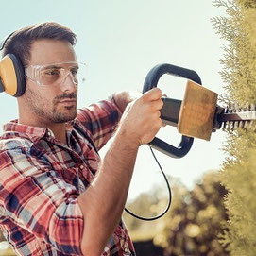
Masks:
[[[129,104],[128,94],[115,96],[124,104],[119,108],[126,107],[125,111],[94,182],[78,196],[84,216],[81,248],[86,256],[100,255],[120,221],[138,148],[151,142],[162,126],[161,96],[158,88],[141,94]]]

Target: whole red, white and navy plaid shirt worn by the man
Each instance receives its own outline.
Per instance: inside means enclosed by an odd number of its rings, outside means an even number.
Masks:
[[[94,179],[99,150],[120,118],[113,99],[78,110],[68,145],[48,128],[16,121],[0,137],[0,227],[18,255],[82,255],[77,196]],[[108,221],[106,219],[106,221]],[[121,221],[102,255],[135,255]]]

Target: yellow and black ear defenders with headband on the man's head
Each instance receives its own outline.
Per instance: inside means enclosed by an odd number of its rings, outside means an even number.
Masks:
[[[11,33],[1,44],[0,51],[12,35]],[[14,54],[7,54],[0,60],[0,93],[6,92],[14,97],[19,97],[25,93],[26,82],[22,61]]]

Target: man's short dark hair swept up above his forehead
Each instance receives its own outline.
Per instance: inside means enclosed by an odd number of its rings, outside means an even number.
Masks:
[[[12,53],[26,65],[30,60],[31,43],[44,38],[65,40],[72,45],[77,43],[77,36],[70,28],[55,22],[45,22],[26,26],[12,33],[5,43],[3,57]]]

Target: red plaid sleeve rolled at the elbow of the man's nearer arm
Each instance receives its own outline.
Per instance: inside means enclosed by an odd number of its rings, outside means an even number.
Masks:
[[[0,184],[0,204],[12,222],[62,253],[82,255],[77,190],[49,162],[24,148],[0,151]]]

